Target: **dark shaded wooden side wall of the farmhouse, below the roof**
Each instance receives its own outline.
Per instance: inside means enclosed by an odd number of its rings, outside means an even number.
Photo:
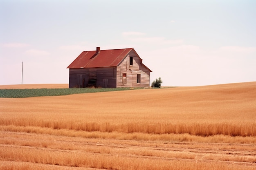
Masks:
[[[87,87],[89,79],[96,79],[97,87],[116,88],[116,77],[116,67],[70,68],[69,88]]]

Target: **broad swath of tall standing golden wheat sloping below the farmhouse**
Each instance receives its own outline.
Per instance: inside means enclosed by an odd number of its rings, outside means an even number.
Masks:
[[[0,99],[0,124],[89,132],[256,136],[255,84]]]

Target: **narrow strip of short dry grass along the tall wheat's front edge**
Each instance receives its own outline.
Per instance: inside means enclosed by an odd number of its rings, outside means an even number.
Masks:
[[[97,139],[118,139],[118,140],[143,140],[143,141],[175,141],[175,142],[198,142],[198,143],[229,143],[229,144],[256,144],[254,136],[195,136],[185,134],[148,134],[148,133],[124,133],[124,132],[86,132],[82,130],[52,129],[34,126],[0,126],[0,130],[9,132],[27,132],[36,134],[48,134],[66,137],[84,137]],[[0,135],[1,136],[1,135]]]

